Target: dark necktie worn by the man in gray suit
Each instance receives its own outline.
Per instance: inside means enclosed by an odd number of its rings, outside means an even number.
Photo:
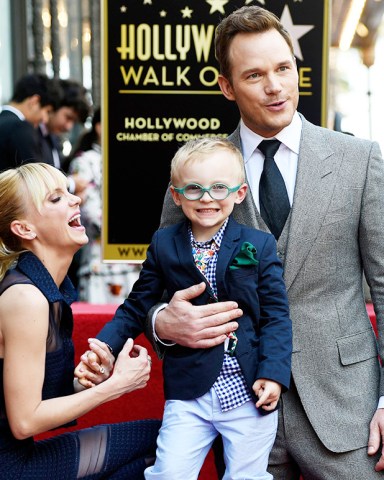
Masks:
[[[284,179],[274,159],[280,143],[279,140],[263,140],[257,147],[265,156],[259,185],[260,213],[276,240],[291,208]]]

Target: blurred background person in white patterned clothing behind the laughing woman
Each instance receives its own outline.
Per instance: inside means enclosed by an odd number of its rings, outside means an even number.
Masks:
[[[119,304],[131,291],[141,265],[103,262],[102,167],[101,111],[97,108],[92,118],[92,127],[79,138],[68,167],[70,175],[86,181],[86,188],[80,195],[83,199],[81,214],[89,243],[79,251],[76,275],[79,301]]]

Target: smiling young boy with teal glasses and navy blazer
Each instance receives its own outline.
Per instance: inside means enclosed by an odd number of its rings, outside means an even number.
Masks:
[[[167,349],[164,417],[146,479],[196,479],[219,433],[225,479],[272,478],[266,469],[278,400],[289,387],[292,330],[274,237],[231,218],[244,179],[242,155],[227,140],[191,140],[178,150],[170,189],[186,219],[154,234],[131,294],[97,335],[116,355],[144,330],[164,290],[172,296],[201,281],[196,304],[232,300],[243,311],[224,346]]]

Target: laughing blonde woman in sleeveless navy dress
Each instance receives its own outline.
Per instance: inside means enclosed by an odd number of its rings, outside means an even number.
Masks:
[[[143,479],[159,420],[96,425],[42,441],[105,402],[144,388],[147,350],[124,345],[113,373],[108,347],[94,340],[108,380],[74,382],[74,289],[66,276],[88,241],[80,198],[58,169],[30,163],[0,174],[0,472],[23,479]]]

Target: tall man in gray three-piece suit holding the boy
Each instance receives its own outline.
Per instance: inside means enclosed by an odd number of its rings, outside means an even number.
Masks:
[[[291,206],[278,251],[293,323],[292,383],[282,396],[270,456],[275,480],[383,478],[384,162],[376,142],[309,123],[297,112],[298,73],[288,32],[267,10],[242,7],[216,33],[220,88],[241,120],[230,139],[243,151],[251,194],[234,211],[269,231],[260,212],[265,139]],[[289,207],[288,207],[289,208]],[[169,191],[163,226],[180,219]],[[379,339],[367,315],[363,273]],[[153,312],[158,353],[172,342],[210,347],[241,322],[233,302],[195,307],[203,285],[177,292]],[[165,307],[161,310],[162,307]],[[153,328],[152,328],[153,327]],[[167,339],[167,340],[165,340]],[[383,403],[381,403],[383,401]]]

